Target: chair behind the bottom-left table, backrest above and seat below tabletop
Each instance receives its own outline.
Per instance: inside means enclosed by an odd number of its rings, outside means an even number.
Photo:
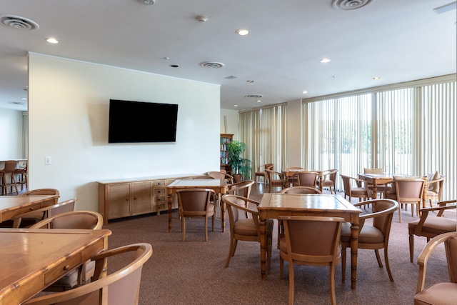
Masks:
[[[69,211],[57,214],[30,227],[30,229],[93,229],[103,226],[103,216],[94,211]],[[78,284],[86,284],[94,276],[95,263],[86,261],[46,288],[46,291],[65,291]]]

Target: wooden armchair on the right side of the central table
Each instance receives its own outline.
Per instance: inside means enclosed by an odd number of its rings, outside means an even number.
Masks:
[[[361,214],[359,217],[358,249],[373,249],[380,267],[383,266],[383,263],[378,250],[384,249],[384,261],[386,262],[388,278],[393,281],[391,268],[388,264],[388,237],[391,232],[393,213],[398,209],[398,202],[391,199],[372,199],[354,204],[354,206],[364,204],[371,205],[371,213]],[[367,224],[366,219],[373,219],[373,222]],[[349,246],[351,246],[351,226],[345,223],[341,228],[341,275],[343,276],[343,281],[346,276],[346,248]]]

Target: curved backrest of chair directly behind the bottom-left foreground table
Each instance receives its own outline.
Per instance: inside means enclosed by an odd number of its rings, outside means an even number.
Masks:
[[[94,211],[57,214],[30,226],[30,229],[101,229],[103,216]]]

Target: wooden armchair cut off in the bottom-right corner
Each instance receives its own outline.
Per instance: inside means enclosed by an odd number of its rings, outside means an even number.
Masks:
[[[425,287],[428,258],[440,244],[445,245],[448,263],[449,281]],[[419,275],[417,281],[415,305],[456,304],[457,302],[457,232],[449,232],[433,237],[423,248],[417,260]]]

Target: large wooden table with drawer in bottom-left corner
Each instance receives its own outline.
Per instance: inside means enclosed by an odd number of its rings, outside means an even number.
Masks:
[[[111,231],[0,229],[0,304],[21,304],[108,249]]]

